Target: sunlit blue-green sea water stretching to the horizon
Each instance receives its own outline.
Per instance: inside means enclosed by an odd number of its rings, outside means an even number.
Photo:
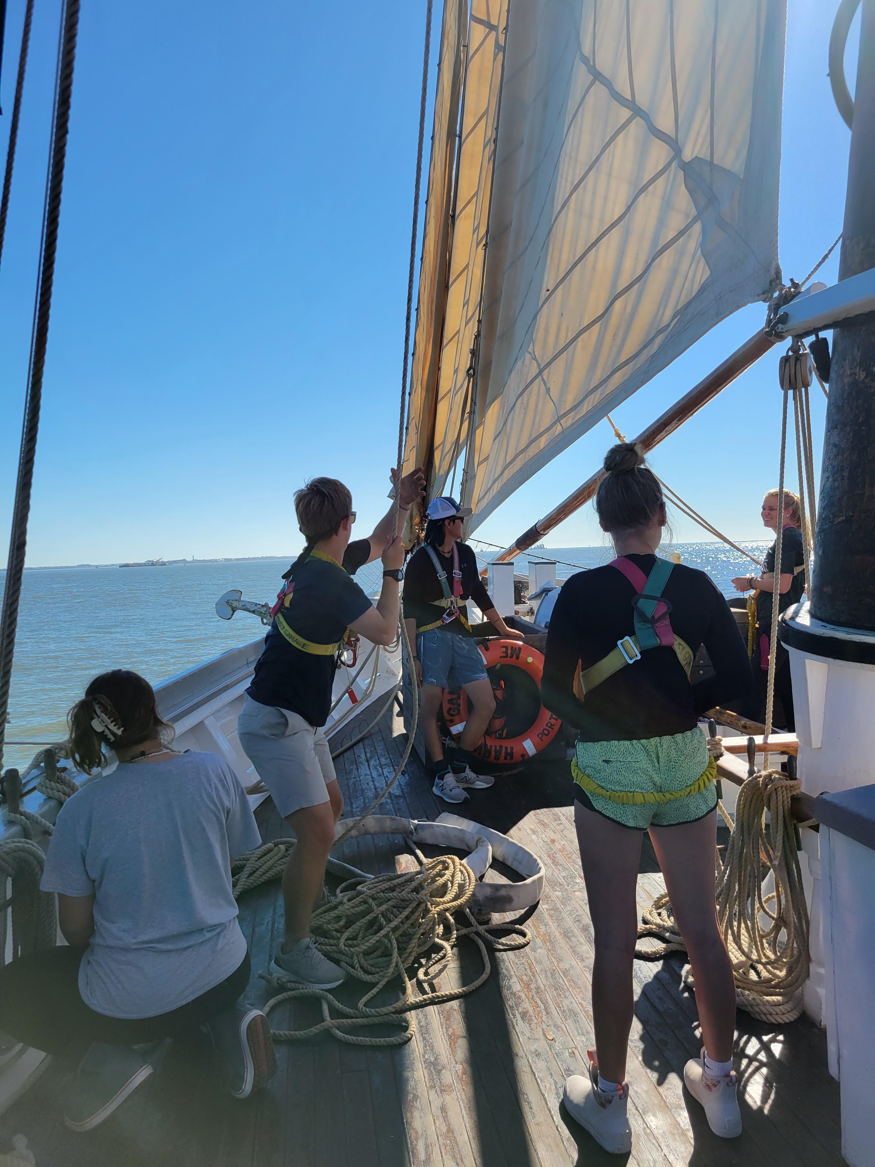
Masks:
[[[740,545],[762,559],[768,543]],[[732,576],[747,575],[752,568],[749,560],[720,543],[677,544],[663,550],[678,551],[682,562],[707,572],[727,596],[737,594],[729,582]],[[607,546],[533,548],[531,554],[565,560],[556,568],[560,579],[614,558]],[[527,571],[528,558],[517,559],[518,571]],[[68,708],[106,669],[133,669],[158,684],[260,638],[265,629],[257,617],[238,612],[233,620],[219,620],[214,606],[230,588],[239,588],[246,600],[272,601],[287,566],[288,560],[275,559],[26,571],[7,741],[63,738]],[[379,587],[380,574],[377,562],[356,578],[370,592]],[[0,572],[0,587],[4,578],[5,572]],[[23,766],[36,748],[7,745],[5,766]]]

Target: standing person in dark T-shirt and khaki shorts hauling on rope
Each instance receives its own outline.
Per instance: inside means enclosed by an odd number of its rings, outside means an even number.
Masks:
[[[413,470],[400,483],[399,525],[422,494]],[[331,710],[336,652],[348,629],[373,644],[398,635],[398,585],[404,544],[392,537],[392,510],[369,539],[350,543],[352,496],[336,478],[314,478],[295,492],[295,512],[307,545],[284,575],[274,621],[240,711],[240,745],[295,832],[282,876],[286,935],[271,972],[302,985],[334,988],[343,970],[310,938],[310,916],[323,892],[335,825],[343,810],[331,752],[322,732]],[[350,579],[382,554],[383,589],[374,607]]]

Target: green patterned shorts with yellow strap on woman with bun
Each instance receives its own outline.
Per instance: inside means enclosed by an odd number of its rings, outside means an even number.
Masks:
[[[718,804],[716,763],[698,727],[640,741],[579,741],[572,774],[579,802],[637,831],[694,823]]]

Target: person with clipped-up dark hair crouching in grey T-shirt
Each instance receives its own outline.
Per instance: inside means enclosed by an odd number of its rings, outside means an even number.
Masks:
[[[0,969],[0,1029],[49,1054],[84,1057],[64,1120],[103,1123],[149,1078],[166,1039],[205,1029],[231,1092],[275,1069],[271,1029],[240,1002],[250,980],[231,860],[260,846],[246,794],[215,754],[170,749],[173,727],[135,672],[91,682],[69,714],[70,756],[106,763],[57,816],[41,887],[56,892],[68,946]]]

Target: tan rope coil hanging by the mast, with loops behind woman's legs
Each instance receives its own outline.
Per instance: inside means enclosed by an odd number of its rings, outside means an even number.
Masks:
[[[718,920],[733,962],[738,1005],[776,1023],[799,1016],[808,977],[808,909],[790,815],[790,799],[800,788],[798,780],[779,770],[747,780],[716,876]],[[775,890],[764,894],[769,874]],[[658,948],[638,948],[636,956],[644,959],[686,951],[667,895],[658,896],[643,914],[638,936],[663,941]],[[685,980],[692,985],[688,974]]]

